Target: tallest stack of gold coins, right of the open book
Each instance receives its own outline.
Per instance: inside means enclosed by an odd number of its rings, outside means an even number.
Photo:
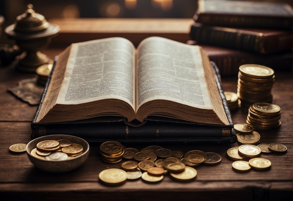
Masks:
[[[248,108],[257,102],[272,103],[274,73],[273,69],[257,64],[239,67],[237,96],[242,107]]]

